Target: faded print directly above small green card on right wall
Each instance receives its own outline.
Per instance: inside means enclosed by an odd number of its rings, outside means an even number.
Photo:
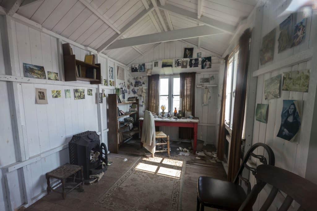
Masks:
[[[280,98],[280,85],[282,75],[269,78],[264,82],[264,97],[265,100]]]

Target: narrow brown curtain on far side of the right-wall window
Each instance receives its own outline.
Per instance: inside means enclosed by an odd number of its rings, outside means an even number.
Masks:
[[[227,55],[224,58],[224,71],[223,71],[223,85],[222,85],[222,97],[220,107],[220,120],[219,120],[219,133],[218,133],[218,145],[217,145],[217,157],[223,161],[224,154],[224,142],[226,141],[224,114],[226,108],[226,87],[227,87],[227,71],[228,71],[228,58]]]

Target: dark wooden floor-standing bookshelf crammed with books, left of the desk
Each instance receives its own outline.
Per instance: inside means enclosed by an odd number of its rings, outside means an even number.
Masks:
[[[109,94],[108,95],[108,119],[109,119],[109,132],[108,132],[108,150],[111,153],[118,153],[119,151],[119,146],[129,140],[131,140],[132,136],[127,137],[125,139],[122,139],[119,142],[119,136],[120,136],[120,132],[122,132],[123,130],[126,130],[129,128],[129,126],[123,126],[119,128],[119,120],[123,121],[124,118],[126,117],[135,117],[134,118],[134,122],[133,122],[133,126],[137,126],[139,127],[138,124],[138,119],[139,119],[139,99],[137,99],[136,101],[128,101],[128,102],[121,102],[118,103],[117,101],[117,94]],[[133,111],[129,114],[124,114],[124,115],[120,115],[118,116],[118,107],[120,110],[123,111],[127,111],[128,108],[126,107],[130,107],[130,105],[136,105],[137,107],[137,111]]]

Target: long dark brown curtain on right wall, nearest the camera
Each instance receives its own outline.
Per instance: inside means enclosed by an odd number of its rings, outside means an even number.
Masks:
[[[235,92],[236,96],[233,109],[233,122],[228,165],[228,180],[231,182],[234,182],[236,174],[240,168],[241,142],[249,67],[250,37],[251,31],[250,29],[246,29],[239,39],[239,55]]]

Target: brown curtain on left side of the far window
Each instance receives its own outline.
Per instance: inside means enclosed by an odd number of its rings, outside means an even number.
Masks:
[[[159,75],[148,76],[147,110],[159,115]]]

